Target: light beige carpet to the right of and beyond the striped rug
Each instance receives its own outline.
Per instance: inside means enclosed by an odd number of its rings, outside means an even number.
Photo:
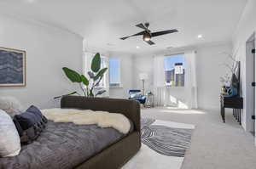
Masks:
[[[231,113],[226,123],[218,111],[153,108],[143,109],[142,116],[196,126],[182,169],[256,169],[253,136],[243,131]]]

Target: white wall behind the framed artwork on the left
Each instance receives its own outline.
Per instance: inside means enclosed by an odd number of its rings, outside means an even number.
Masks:
[[[67,66],[81,70],[82,38],[48,25],[0,16],[0,46],[26,50],[26,87],[0,87],[0,95],[20,99],[25,107],[55,107],[53,97],[77,88],[63,75]]]

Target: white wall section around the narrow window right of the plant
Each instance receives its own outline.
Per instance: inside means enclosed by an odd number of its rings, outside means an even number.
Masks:
[[[121,83],[122,87],[110,87],[109,88],[109,97],[110,98],[119,98],[119,99],[128,99],[129,90],[132,89],[133,81],[133,62],[132,54],[125,54],[119,52],[110,52],[109,58],[120,59],[121,61]]]

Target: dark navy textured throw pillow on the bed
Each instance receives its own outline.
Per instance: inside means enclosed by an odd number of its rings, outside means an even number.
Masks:
[[[32,143],[43,132],[47,119],[37,107],[31,106],[26,112],[15,115],[15,126],[20,134],[21,144]]]

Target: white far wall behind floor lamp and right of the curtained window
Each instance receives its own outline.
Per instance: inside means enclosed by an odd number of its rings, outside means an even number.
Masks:
[[[197,47],[196,49],[196,74],[198,83],[198,106],[205,110],[219,110],[219,94],[222,84],[219,82],[220,76],[228,72],[222,64],[227,58],[226,54],[231,54],[230,43],[218,43]],[[139,72],[147,72],[150,79],[146,82],[146,90],[153,91],[153,57],[150,55],[136,55],[134,57],[134,88],[142,88],[139,80]],[[186,103],[186,93],[183,87],[168,89],[168,92],[179,101]]]

